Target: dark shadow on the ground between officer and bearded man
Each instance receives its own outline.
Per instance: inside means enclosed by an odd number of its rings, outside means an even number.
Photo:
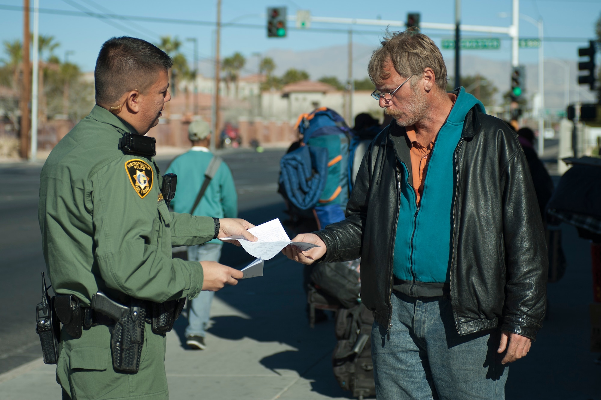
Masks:
[[[240,213],[252,223],[259,224],[278,218],[284,222],[287,216],[281,204],[254,208]],[[293,232],[288,231],[293,237]],[[221,262],[236,268],[243,267],[254,258],[242,247],[225,244]],[[227,249],[227,250],[226,250]],[[251,317],[221,316],[212,318],[212,335],[228,340],[250,338],[257,342],[279,342],[295,350],[282,351],[260,360],[261,365],[276,374],[281,370],[296,371],[301,377],[311,380],[314,392],[329,397],[347,397],[332,372],[332,351],[336,344],[334,319],[309,327],[305,308],[307,300],[302,288],[303,266],[278,254],[264,264],[263,277],[240,280],[236,286],[228,286],[216,292],[216,296],[228,305]],[[188,320],[179,318],[175,322],[182,347],[185,345],[184,331]]]

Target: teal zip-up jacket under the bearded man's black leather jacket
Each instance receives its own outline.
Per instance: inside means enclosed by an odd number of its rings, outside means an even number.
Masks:
[[[454,198],[454,153],[468,111],[484,106],[463,88],[436,136],[427,165],[424,192],[419,208],[409,183],[411,165],[399,160],[401,196],[394,241],[394,276],[427,283],[448,282],[451,254],[451,207]],[[407,160],[408,162],[409,160]]]

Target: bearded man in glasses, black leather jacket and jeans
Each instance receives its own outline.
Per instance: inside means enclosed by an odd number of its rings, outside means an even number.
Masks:
[[[346,220],[294,238],[321,247],[283,252],[362,258],[378,399],[504,399],[507,363],[528,353],[546,304],[522,147],[465,89],[446,92],[441,52],[415,29],[387,35],[368,73],[394,120],[365,154]]]

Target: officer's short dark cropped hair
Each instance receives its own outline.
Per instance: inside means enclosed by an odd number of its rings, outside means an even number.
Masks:
[[[159,47],[135,37],[112,37],[100,47],[94,69],[96,104],[114,105],[128,91],[144,91],[173,60]]]

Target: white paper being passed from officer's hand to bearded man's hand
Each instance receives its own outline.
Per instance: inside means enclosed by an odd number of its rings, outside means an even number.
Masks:
[[[293,244],[302,251],[313,249],[313,247],[319,247],[312,243],[290,241],[286,231],[284,231],[282,223],[279,222],[279,219],[277,218],[266,223],[261,223],[261,225],[248,229],[248,231],[255,235],[258,240],[249,241],[242,237],[233,236],[224,238],[224,240],[237,240],[247,253],[264,260],[272,259],[280,252],[280,250],[288,246],[288,244]]]

